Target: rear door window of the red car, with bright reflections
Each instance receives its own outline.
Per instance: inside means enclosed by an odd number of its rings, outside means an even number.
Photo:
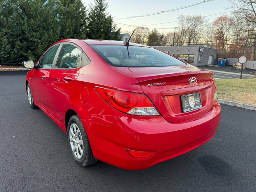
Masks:
[[[74,45],[64,44],[60,50],[55,68],[78,68],[80,67],[81,51]]]

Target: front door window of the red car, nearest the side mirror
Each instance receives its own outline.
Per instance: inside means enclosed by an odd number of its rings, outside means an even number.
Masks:
[[[52,62],[54,60],[55,54],[60,45],[56,45],[50,48],[46,53],[44,53],[43,57],[40,60],[38,68],[50,69],[52,68]]]

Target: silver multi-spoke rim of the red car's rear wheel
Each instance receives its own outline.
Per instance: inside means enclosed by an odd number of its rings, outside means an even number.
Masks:
[[[81,159],[84,152],[83,139],[78,126],[74,123],[69,128],[69,141],[72,153],[77,159]]]

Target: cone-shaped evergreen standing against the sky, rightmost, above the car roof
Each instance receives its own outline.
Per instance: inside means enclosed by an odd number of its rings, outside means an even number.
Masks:
[[[87,38],[120,40],[121,28],[117,28],[113,18],[106,12],[108,3],[105,0],[94,0],[88,13]]]

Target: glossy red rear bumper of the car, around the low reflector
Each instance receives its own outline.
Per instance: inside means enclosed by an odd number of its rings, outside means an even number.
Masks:
[[[127,170],[146,169],[154,164],[191,151],[215,134],[220,123],[220,104],[187,121],[169,123],[162,116],[124,115],[114,124],[102,125],[82,120],[95,158]],[[135,158],[125,150],[154,151]]]

